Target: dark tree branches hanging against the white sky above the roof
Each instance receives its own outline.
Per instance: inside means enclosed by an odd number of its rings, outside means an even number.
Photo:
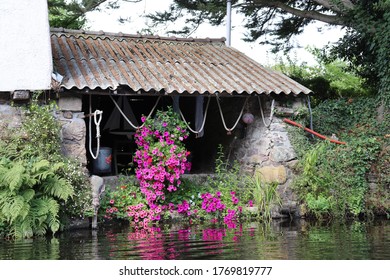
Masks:
[[[148,17],[154,24],[165,24],[186,17],[187,26],[167,33],[192,33],[199,24],[208,22],[220,25],[226,16],[226,0],[174,0],[166,12]],[[314,20],[331,25],[347,26],[346,15],[355,8],[355,1],[349,0],[232,0],[233,9],[245,16],[247,41],[262,37],[263,44],[284,45],[291,36],[300,34],[303,28]],[[264,40],[264,36],[268,39]]]

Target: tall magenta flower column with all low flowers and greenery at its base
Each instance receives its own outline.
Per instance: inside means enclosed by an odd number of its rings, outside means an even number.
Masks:
[[[105,217],[127,219],[136,229],[146,229],[162,214],[169,218],[176,213],[190,224],[219,221],[236,228],[245,206],[242,203],[247,201],[238,184],[238,169],[231,173],[220,158],[215,179],[208,184],[183,183],[181,175],[191,167],[183,143],[188,137],[185,123],[170,108],[158,111],[154,119],[142,117],[142,122],[135,135],[138,148],[134,156],[139,186],[123,184],[113,192],[107,199]]]

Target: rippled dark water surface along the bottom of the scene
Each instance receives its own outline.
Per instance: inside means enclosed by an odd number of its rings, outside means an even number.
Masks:
[[[0,259],[390,259],[390,221],[278,221],[235,229],[167,225],[150,231],[106,226],[55,238],[0,240]]]

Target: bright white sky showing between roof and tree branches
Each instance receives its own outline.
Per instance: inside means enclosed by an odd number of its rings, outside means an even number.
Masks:
[[[100,12],[91,12],[87,16],[87,27],[90,30],[106,32],[123,32],[129,34],[136,34],[137,31],[147,28],[146,19],[143,17],[146,14],[155,11],[165,11],[168,9],[172,0],[143,0],[139,3],[128,3],[121,1],[119,9],[102,9]],[[126,23],[120,23],[119,18],[129,18]],[[180,26],[183,23],[174,23]],[[166,36],[164,31],[172,29],[172,24],[167,27],[161,27],[156,30],[155,35]],[[319,29],[322,31],[319,32]],[[231,46],[235,49],[245,53],[247,56],[256,60],[262,65],[274,65],[282,56],[274,55],[270,52],[270,47],[260,45],[256,42],[248,43],[242,39],[244,37],[245,28],[243,27],[242,15],[232,13],[232,31],[231,31]],[[225,26],[210,26],[208,24],[201,25],[198,30],[191,34],[191,37],[197,38],[221,38],[226,37]],[[305,28],[303,34],[294,38],[295,43],[299,48],[294,48],[290,56],[298,63],[307,63],[308,65],[315,65],[314,57],[306,50],[307,47],[321,48],[324,45],[336,42],[341,36],[342,31],[335,28],[330,28],[323,23],[315,23]]]

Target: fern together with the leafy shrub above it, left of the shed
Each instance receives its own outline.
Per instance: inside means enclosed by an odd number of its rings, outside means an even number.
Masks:
[[[5,129],[0,138],[0,223],[9,237],[56,232],[63,217],[92,213],[92,198],[81,165],[60,151],[56,107],[39,105],[35,96],[22,126]],[[10,209],[12,211],[10,211]]]

